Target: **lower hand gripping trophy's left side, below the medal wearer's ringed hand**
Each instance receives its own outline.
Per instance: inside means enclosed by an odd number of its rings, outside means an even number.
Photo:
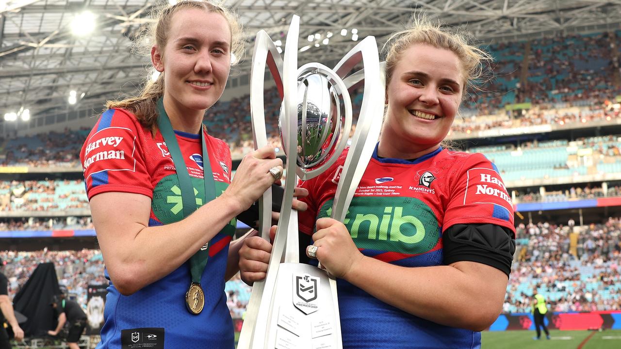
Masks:
[[[270,238],[273,241],[276,234],[276,225],[270,229]],[[255,281],[265,279],[270,263],[272,244],[260,236],[253,236],[243,240],[239,250],[239,271],[242,281],[252,286]]]

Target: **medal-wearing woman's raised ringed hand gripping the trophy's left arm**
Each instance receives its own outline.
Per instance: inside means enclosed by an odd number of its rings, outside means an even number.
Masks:
[[[274,176],[270,173],[273,167],[279,167],[283,173],[283,160],[276,158],[276,151],[271,145],[248,153],[223,195],[237,202],[240,212],[247,210],[274,183]]]

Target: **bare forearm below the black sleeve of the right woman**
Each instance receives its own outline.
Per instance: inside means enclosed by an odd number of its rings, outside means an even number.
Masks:
[[[476,331],[496,320],[507,287],[502,271],[475,262],[406,268],[364,257],[345,279],[417,317]]]

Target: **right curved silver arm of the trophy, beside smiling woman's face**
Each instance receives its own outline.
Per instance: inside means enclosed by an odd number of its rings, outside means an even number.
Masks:
[[[356,131],[351,139],[351,146],[343,164],[343,171],[338,181],[337,193],[332,205],[332,218],[343,222],[360,179],[365,173],[368,161],[379,138],[382,124],[385,83],[379,69],[378,47],[374,37],[366,37],[338,62],[335,71],[343,78],[356,64],[363,61],[365,66],[365,92]],[[351,83],[351,81],[350,81]],[[361,138],[366,135],[366,138]],[[364,137],[364,136],[363,136]],[[343,183],[347,184],[347,188]]]

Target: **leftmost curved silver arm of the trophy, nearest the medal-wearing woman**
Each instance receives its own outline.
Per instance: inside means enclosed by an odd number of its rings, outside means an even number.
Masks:
[[[256,34],[255,49],[252,55],[252,71],[250,73],[250,117],[252,119],[252,134],[255,141],[255,149],[268,145],[267,132],[265,129],[265,107],[263,105],[265,65],[270,67],[274,82],[278,91],[283,96],[282,71],[283,60],[280,57],[276,45],[264,30]],[[270,240],[271,227],[271,188],[266,190],[259,201],[259,227],[261,227],[261,237]],[[239,336],[238,349],[248,349],[252,343],[257,314],[263,293],[265,291],[265,280],[255,281],[252,287],[252,294],[246,310],[246,318]],[[271,294],[271,291],[269,292]]]

